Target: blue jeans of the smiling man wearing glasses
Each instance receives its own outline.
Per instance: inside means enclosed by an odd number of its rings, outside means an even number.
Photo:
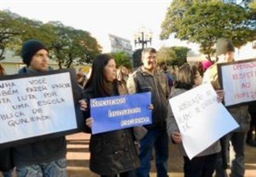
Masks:
[[[140,168],[138,176],[149,177],[151,157],[155,150],[155,162],[158,177],[166,177],[168,174],[168,135],[165,130],[148,130],[147,135],[140,141]]]

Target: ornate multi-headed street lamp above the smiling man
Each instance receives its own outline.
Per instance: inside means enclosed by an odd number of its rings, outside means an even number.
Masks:
[[[145,27],[141,27],[139,32],[134,34],[134,45],[135,45],[135,47],[136,47],[136,44],[139,44],[139,45],[141,44],[142,50],[143,50],[144,46],[147,47],[148,42],[151,45],[152,36],[153,36],[153,33],[151,31],[147,32]]]

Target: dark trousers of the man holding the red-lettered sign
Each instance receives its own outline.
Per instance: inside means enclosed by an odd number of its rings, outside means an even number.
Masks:
[[[229,156],[229,141],[231,141],[234,148],[234,160],[231,164],[231,176],[243,177],[246,172],[245,168],[245,147],[246,147],[247,132],[230,132],[225,138],[225,148]],[[222,159],[218,159],[218,164],[222,163]],[[220,168],[221,165],[216,165],[216,177],[227,177],[226,169]]]

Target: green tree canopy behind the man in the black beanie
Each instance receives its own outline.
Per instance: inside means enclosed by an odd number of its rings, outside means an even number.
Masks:
[[[87,31],[67,27],[60,21],[44,24],[9,11],[0,11],[1,52],[11,48],[19,53],[22,43],[30,39],[43,41],[50,49],[53,60],[58,62],[59,68],[91,63],[92,59],[102,52],[97,40]],[[3,59],[1,55],[0,59]]]

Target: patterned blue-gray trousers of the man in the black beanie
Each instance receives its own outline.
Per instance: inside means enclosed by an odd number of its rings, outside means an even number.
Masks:
[[[17,177],[67,177],[66,158],[29,166],[16,167]]]

